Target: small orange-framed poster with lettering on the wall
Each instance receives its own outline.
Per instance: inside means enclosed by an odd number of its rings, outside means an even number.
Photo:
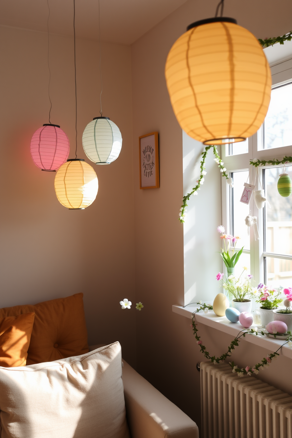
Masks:
[[[158,132],[139,137],[140,188],[159,187]]]

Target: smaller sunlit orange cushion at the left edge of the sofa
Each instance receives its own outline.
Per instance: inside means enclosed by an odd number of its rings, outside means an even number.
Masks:
[[[0,318],[0,367],[25,367],[35,314]]]

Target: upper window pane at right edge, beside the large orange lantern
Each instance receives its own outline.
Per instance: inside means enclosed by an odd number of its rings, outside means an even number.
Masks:
[[[292,145],[292,84],[274,88],[264,120],[264,148]]]

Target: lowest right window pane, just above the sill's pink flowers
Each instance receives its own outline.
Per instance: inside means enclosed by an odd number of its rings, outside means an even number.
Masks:
[[[291,287],[292,261],[267,257],[267,285]]]

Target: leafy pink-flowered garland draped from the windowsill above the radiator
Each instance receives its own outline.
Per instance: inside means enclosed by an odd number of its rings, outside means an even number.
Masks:
[[[203,345],[202,341],[201,341],[201,336],[197,335],[198,329],[197,329],[197,324],[195,322],[195,314],[197,312],[199,312],[200,310],[203,310],[204,313],[208,313],[208,310],[212,310],[213,306],[209,305],[209,304],[202,304],[202,301],[200,301],[199,303],[190,303],[190,304],[200,304],[200,308],[198,308],[196,311],[193,312],[192,314],[192,327],[193,327],[193,334],[195,335],[196,339],[197,339],[197,344],[200,346],[201,352],[204,354],[204,356],[207,359],[210,359],[212,363],[214,364],[219,364],[219,362],[223,362],[227,357],[231,356],[231,352],[232,350],[235,349],[236,346],[238,346],[238,343],[240,341],[240,338],[243,336],[245,337],[246,334],[253,334],[253,335],[258,335],[257,330],[255,329],[245,329],[245,330],[241,330],[240,332],[242,332],[242,334],[239,334],[236,336],[235,339],[233,339],[233,341],[231,342],[231,344],[228,347],[228,351],[227,353],[222,354],[222,356],[220,357],[215,357],[215,356],[210,356],[209,352],[206,351],[206,347]],[[264,332],[260,332],[262,336],[265,335]],[[289,337],[286,340],[286,342],[283,345],[288,344],[288,346],[292,346],[292,334],[291,332],[289,333]],[[274,337],[276,337],[276,334],[274,334]],[[249,376],[251,376],[252,374],[258,374],[260,371],[260,367],[267,367],[272,359],[276,358],[277,356],[279,356],[278,351],[280,350],[280,348],[283,346],[281,345],[278,350],[274,351],[274,353],[268,354],[267,357],[264,357],[258,364],[255,364],[253,367],[250,366],[246,366],[245,368],[239,368],[237,365],[234,365],[234,362],[229,362],[229,365],[232,367],[232,372],[233,373],[237,373],[239,377],[243,376],[244,374],[248,374]]]

